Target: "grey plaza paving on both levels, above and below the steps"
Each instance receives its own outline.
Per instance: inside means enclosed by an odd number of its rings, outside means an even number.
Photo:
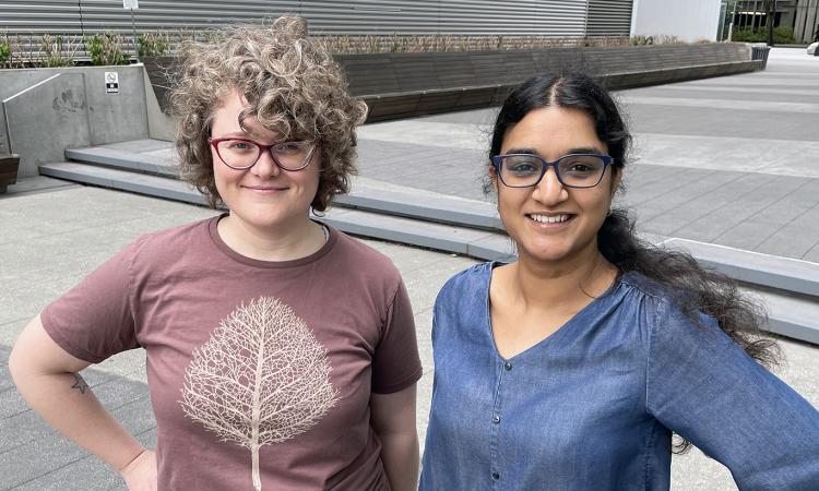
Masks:
[[[765,71],[619,92],[636,135],[636,164],[625,175],[619,203],[633,211],[646,235],[819,263],[817,88],[819,58],[804,49],[773,49]],[[480,179],[494,111],[365,125],[358,133],[360,176],[489,200]],[[5,361],[31,318],[127,243],[214,213],[48,178],[24,180],[0,196],[0,490],[124,489],[116,472],[27,408]],[[435,370],[431,307],[441,285],[477,261],[365,241],[392,259],[413,302],[425,367],[417,410],[423,445]],[[776,374],[819,407],[819,347],[791,339],[781,346],[786,363]],[[140,441],[155,443],[141,350],[115,356],[84,375]],[[695,450],[674,457],[672,489],[736,487],[726,468]]]

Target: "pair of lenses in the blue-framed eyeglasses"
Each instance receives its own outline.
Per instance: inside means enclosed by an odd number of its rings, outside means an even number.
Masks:
[[[501,159],[500,178],[513,188],[535,185],[543,176],[544,161],[534,155],[509,155]],[[592,188],[603,178],[605,161],[594,155],[567,155],[557,165],[557,177],[565,185]]]

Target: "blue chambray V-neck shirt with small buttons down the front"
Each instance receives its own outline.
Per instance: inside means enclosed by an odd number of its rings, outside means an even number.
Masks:
[[[667,490],[672,430],[743,490],[819,490],[819,412],[713,319],[697,325],[627,273],[506,360],[489,321],[495,264],[436,301],[420,490]]]

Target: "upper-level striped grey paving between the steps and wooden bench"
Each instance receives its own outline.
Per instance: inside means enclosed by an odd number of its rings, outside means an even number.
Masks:
[[[616,93],[634,133],[625,175],[644,232],[819,262],[819,61],[774,48],[768,69]],[[368,124],[361,175],[484,195],[496,109]]]

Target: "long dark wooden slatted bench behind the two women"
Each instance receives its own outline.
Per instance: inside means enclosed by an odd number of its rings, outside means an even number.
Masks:
[[[744,43],[548,48],[538,50],[336,55],[349,91],[370,107],[367,121],[497,106],[539,73],[583,72],[609,88],[664,84],[763,68]],[[144,60],[167,112],[173,58]]]

